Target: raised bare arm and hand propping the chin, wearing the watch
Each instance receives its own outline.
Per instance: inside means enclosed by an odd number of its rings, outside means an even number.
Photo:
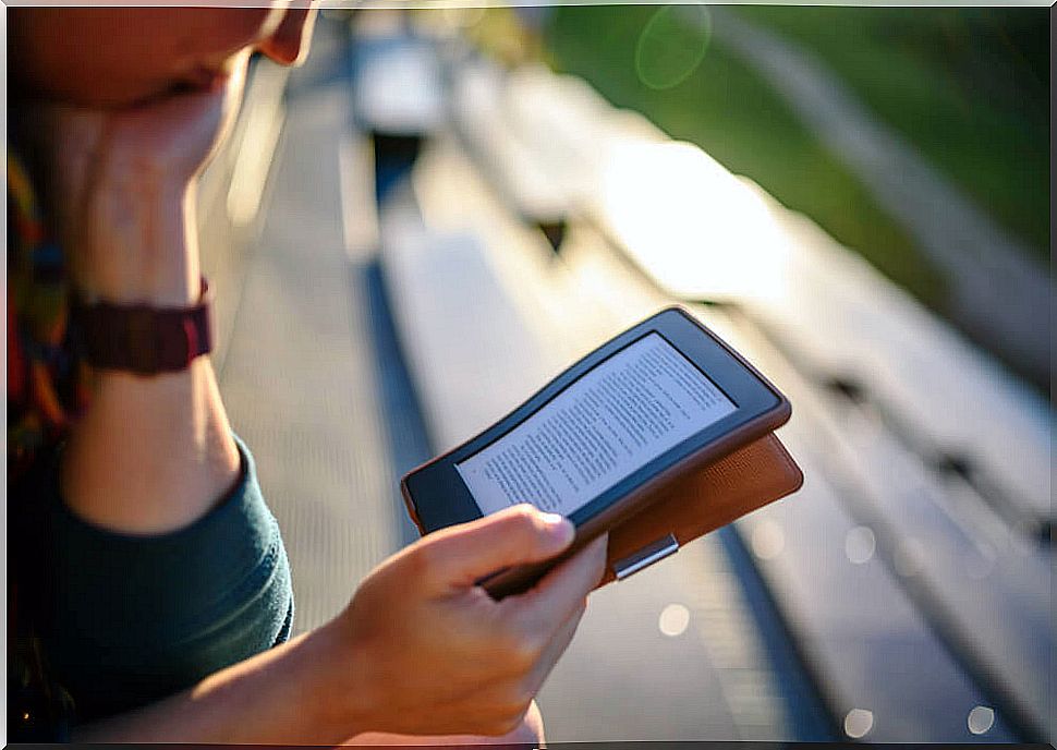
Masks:
[[[220,92],[124,111],[44,111],[52,215],[82,295],[197,301],[194,181],[241,96],[244,62]],[[203,516],[234,483],[239,453],[207,356],[149,377],[100,371],[93,391],[63,453],[63,495],[78,516],[162,533]]]

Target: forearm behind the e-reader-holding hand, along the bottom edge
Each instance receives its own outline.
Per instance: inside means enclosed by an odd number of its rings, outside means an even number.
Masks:
[[[367,725],[353,695],[332,688],[336,644],[314,630],[147,707],[85,726],[78,742],[332,745]],[[340,694],[339,694],[340,693]],[[336,707],[337,699],[341,707]]]

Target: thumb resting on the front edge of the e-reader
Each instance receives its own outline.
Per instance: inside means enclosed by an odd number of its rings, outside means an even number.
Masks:
[[[433,586],[462,589],[502,568],[555,557],[574,535],[572,523],[561,516],[519,505],[435,532],[418,544]]]

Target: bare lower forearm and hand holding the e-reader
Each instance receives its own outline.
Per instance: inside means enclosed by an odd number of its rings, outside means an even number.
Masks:
[[[502,602],[473,581],[571,540],[568,523],[526,506],[432,534],[372,572],[328,625],[75,739],[303,745],[514,730],[572,639],[606,540]]]

